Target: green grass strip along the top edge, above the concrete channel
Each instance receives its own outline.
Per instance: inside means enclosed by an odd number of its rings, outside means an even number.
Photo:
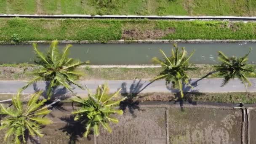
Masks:
[[[0,13],[255,16],[256,1],[0,0]]]

